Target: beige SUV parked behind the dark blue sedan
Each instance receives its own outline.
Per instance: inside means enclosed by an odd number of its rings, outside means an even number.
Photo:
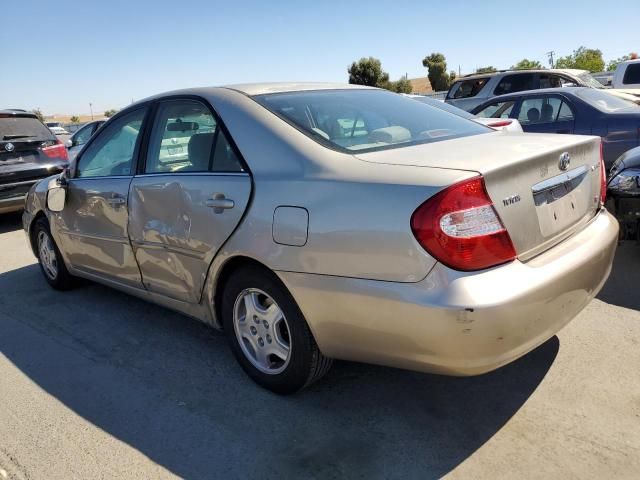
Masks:
[[[445,101],[470,112],[498,95],[567,86],[604,88],[586,70],[502,70],[460,77],[449,88]]]

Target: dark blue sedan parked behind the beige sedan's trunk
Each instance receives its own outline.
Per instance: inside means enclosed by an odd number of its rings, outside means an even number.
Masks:
[[[640,142],[640,106],[595,88],[552,88],[495,97],[473,109],[486,118],[518,119],[525,132],[598,135],[607,169]]]

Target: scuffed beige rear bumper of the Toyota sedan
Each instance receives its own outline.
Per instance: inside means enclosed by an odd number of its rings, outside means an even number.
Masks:
[[[527,263],[482,272],[436,265],[418,283],[278,272],[327,356],[475,375],[551,338],[600,291],[618,222],[606,210]]]

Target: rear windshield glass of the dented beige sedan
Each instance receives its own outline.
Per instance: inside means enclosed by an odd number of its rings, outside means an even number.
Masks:
[[[491,132],[385,90],[318,90],[254,98],[318,143],[343,151],[375,151]]]

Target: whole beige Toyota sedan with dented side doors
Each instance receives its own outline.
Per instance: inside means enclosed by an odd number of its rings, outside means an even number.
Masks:
[[[617,222],[597,137],[497,132],[384,90],[171,92],[31,189],[57,289],[92,279],[226,331],[290,393],[331,359],[474,375],[598,293]]]

